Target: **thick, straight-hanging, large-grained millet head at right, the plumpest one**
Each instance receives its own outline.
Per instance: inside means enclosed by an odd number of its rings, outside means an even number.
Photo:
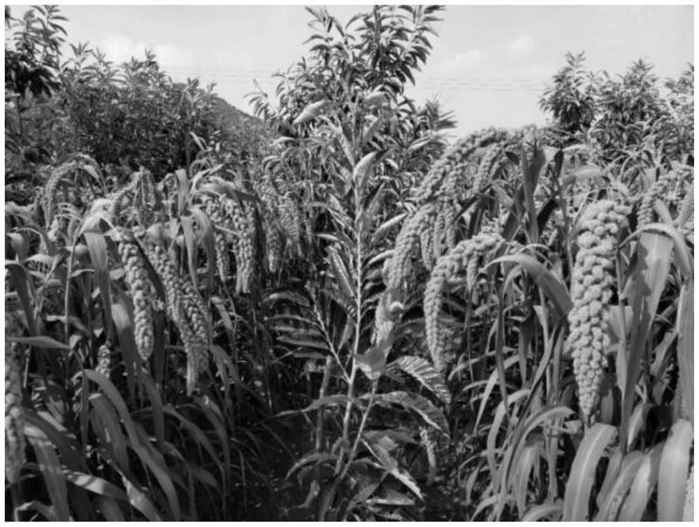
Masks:
[[[608,307],[614,286],[614,258],[619,230],[627,225],[628,207],[597,201],[579,220],[565,347],[573,359],[582,417],[589,422],[599,400],[600,382],[610,345]]]

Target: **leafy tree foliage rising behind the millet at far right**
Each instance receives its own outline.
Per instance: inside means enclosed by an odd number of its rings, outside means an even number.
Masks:
[[[694,66],[677,80],[661,85],[653,66],[643,60],[624,75],[593,73],[584,53],[565,56],[566,66],[554,76],[541,99],[551,113],[556,140],[583,141],[604,164],[621,164],[637,173],[653,159],[663,166],[693,152]]]

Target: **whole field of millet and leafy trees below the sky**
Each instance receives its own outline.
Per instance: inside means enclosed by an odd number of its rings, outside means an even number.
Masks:
[[[693,519],[693,66],[447,143],[440,8],[309,11],[231,128],[6,8],[6,520]]]

